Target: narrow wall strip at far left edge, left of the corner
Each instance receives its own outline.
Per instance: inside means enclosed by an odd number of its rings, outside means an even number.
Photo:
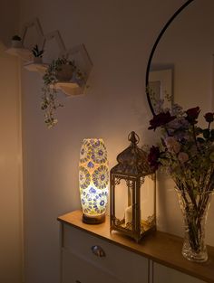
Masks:
[[[21,283],[23,271],[20,66],[5,54],[18,31],[18,1],[0,9],[0,282]]]

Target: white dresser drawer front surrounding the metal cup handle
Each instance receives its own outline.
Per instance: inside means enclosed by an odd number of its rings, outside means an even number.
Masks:
[[[99,246],[105,256],[99,257],[92,252]],[[91,234],[80,231],[71,225],[63,225],[63,248],[73,256],[87,261],[103,272],[115,275],[124,283],[148,282],[149,261],[136,253],[124,250]]]

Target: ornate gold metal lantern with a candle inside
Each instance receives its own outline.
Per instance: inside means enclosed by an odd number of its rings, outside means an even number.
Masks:
[[[139,137],[131,132],[131,145],[117,156],[112,167],[111,231],[121,231],[139,242],[143,235],[156,229],[155,175],[147,153],[137,144]]]

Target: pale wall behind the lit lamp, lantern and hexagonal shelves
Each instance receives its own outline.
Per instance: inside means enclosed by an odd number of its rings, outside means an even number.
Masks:
[[[155,135],[147,131],[151,113],[144,94],[146,64],[161,27],[184,2],[21,1],[21,24],[37,16],[44,33],[59,30],[68,48],[83,42],[94,65],[86,96],[60,95],[65,107],[51,130],[44,126],[40,110],[41,77],[22,73],[27,283],[59,282],[56,218],[80,208],[78,161],[83,138],[104,139],[111,167],[128,145],[131,130],[141,142],[154,143]],[[173,186],[167,182],[159,192],[159,227],[181,234],[180,208],[175,193],[165,190]]]

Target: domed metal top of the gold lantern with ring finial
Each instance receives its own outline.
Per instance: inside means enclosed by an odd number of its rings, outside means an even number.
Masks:
[[[128,140],[131,145],[117,156],[118,165],[115,165],[111,172],[129,176],[150,175],[151,169],[147,161],[148,155],[137,146],[140,137],[132,131],[128,136]]]

